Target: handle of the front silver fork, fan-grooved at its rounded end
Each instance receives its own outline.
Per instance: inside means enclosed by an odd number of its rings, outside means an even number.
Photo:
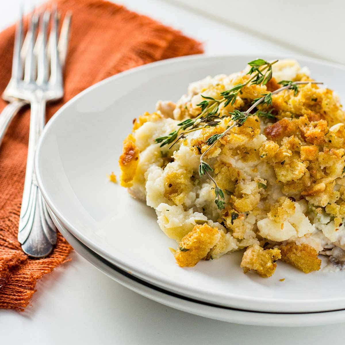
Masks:
[[[34,155],[38,139],[45,125],[46,101],[31,102],[28,158],[20,210],[18,240],[24,253],[32,257],[45,257],[56,243],[56,228],[45,201],[38,189],[34,172]]]

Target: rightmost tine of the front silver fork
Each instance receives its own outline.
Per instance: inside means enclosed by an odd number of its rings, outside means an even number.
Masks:
[[[50,31],[50,82],[62,85],[61,63],[58,53],[58,11],[53,11],[53,19]]]

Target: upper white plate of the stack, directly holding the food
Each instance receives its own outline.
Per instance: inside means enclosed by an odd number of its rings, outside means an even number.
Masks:
[[[130,132],[133,118],[154,110],[158,99],[176,101],[191,81],[238,71],[254,58],[171,59],[121,73],[81,92],[44,130],[36,156],[39,187],[52,211],[81,242],[156,286],[253,311],[345,309],[344,273],[306,275],[279,262],[275,275],[263,279],[243,274],[241,253],[203,261],[193,268],[178,267],[168,249],[176,243],[159,229],[155,211],[106,178],[112,170],[119,174],[122,140]],[[298,60],[316,79],[345,96],[344,68],[318,60]],[[285,281],[280,282],[281,278]]]

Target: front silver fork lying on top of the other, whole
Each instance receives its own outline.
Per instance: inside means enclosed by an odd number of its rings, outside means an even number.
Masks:
[[[47,31],[50,17],[52,20],[48,47],[49,64]],[[24,63],[20,58],[21,40],[16,42],[14,77],[8,86],[12,97],[22,99],[31,105],[28,158],[18,240],[26,254],[32,257],[45,257],[52,251],[56,243],[56,228],[39,192],[33,161],[37,141],[45,125],[46,103],[61,99],[63,96],[62,66],[58,53],[57,9],[54,9],[52,14],[49,11],[45,11],[42,15],[34,13],[31,17],[28,34]]]

